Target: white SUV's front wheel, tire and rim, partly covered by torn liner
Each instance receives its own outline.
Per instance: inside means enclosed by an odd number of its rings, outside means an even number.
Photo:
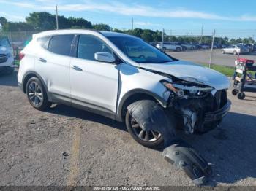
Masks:
[[[128,110],[125,115],[125,125],[132,138],[145,147],[154,148],[164,141],[163,136],[158,132],[152,130],[143,131]]]

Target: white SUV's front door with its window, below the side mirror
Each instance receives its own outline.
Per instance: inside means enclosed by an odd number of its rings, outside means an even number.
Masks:
[[[96,52],[113,53],[99,37],[80,35],[76,58],[72,58],[70,64],[72,104],[114,114],[118,93],[118,65],[95,61]]]

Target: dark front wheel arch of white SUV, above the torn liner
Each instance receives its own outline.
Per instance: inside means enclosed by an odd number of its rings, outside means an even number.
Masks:
[[[124,121],[125,114],[127,113],[127,106],[129,106],[130,104],[134,103],[135,101],[140,101],[140,100],[152,100],[152,101],[159,102],[152,95],[148,95],[146,93],[135,93],[133,95],[130,95],[124,101],[124,104],[122,104],[122,106],[121,106],[121,120]]]

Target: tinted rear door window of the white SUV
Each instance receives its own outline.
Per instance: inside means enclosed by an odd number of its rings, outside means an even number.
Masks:
[[[48,50],[59,55],[69,55],[74,35],[53,36],[50,39]]]

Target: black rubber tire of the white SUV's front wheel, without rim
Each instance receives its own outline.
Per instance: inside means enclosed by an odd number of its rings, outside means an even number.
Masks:
[[[131,116],[131,114],[129,114],[128,110],[127,110],[127,114],[125,115],[125,124],[127,126],[128,132],[132,136],[132,138],[135,139],[135,141],[137,141],[139,144],[142,144],[145,147],[154,148],[154,147],[159,146],[159,144],[162,144],[162,142],[164,141],[163,136],[160,134],[159,134],[159,138],[157,138],[155,141],[145,141],[143,139],[140,139],[135,132],[135,128],[132,128],[132,116]],[[153,136],[153,133],[151,133],[151,135]]]

